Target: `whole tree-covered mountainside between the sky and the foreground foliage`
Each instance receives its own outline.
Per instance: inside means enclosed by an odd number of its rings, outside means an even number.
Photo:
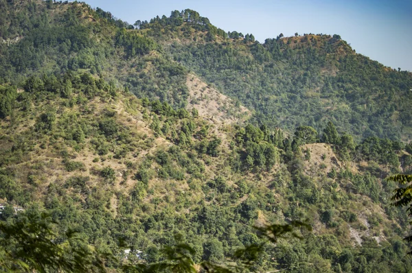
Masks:
[[[78,2],[0,10],[0,198],[24,209],[3,222],[45,213],[53,241],[76,230],[113,272],[180,241],[196,265],[240,264],[254,226],[294,220],[312,232],[251,271],[411,270],[384,179],[412,170],[410,73],[338,35],[261,44],[193,10],[138,29]]]

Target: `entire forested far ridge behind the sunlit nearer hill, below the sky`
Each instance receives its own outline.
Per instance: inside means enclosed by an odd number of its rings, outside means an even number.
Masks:
[[[133,29],[80,3],[0,6],[0,77],[14,83],[32,73],[87,69],[138,97],[184,107],[192,71],[271,128],[319,130],[330,120],[358,140],[412,136],[411,73],[356,54],[339,35],[279,35],[260,44],[253,35],[228,35],[193,10]]]

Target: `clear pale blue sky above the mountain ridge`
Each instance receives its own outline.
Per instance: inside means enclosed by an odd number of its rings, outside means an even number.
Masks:
[[[339,34],[356,52],[412,71],[412,0],[85,0],[128,23],[190,8],[261,43],[281,32]]]

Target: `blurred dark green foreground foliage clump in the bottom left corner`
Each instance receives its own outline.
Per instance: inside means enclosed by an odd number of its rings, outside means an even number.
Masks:
[[[5,272],[105,272],[93,248],[67,228],[58,237],[51,219],[30,213],[16,222],[0,222],[0,268]]]

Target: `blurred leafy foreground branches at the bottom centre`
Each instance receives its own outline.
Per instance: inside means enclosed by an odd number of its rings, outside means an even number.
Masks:
[[[247,240],[249,244],[244,248],[239,248],[231,257],[237,261],[235,265],[220,265],[221,259],[224,257],[224,248],[221,241],[216,238],[207,239],[203,245],[203,261],[200,263],[202,272],[214,273],[235,273],[235,272],[254,272],[253,267],[258,262],[262,254],[265,252],[265,247],[268,244],[277,244],[279,239],[302,239],[295,230],[312,230],[312,228],[299,221],[292,221],[290,224],[265,225],[255,227],[258,231],[258,236],[252,236],[251,240]],[[195,250],[189,244],[185,244],[180,235],[175,236],[175,241],[172,246],[165,246],[161,250],[163,261],[155,263],[129,263],[122,268],[126,272],[172,272],[172,273],[194,273],[198,272],[195,268],[193,256]]]

